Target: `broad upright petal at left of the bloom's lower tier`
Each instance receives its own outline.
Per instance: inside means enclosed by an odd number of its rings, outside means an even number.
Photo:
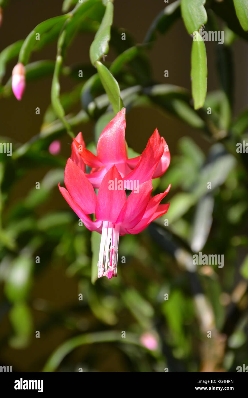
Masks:
[[[70,196],[85,214],[95,213],[97,195],[83,170],[72,159],[68,159],[65,169],[65,185]]]

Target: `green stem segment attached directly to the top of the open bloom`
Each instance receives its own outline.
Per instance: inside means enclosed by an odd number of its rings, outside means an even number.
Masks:
[[[120,98],[120,88],[114,76],[109,72],[108,68],[101,62],[96,62],[97,72],[107,93],[108,99],[112,104],[114,113],[118,113],[124,107]]]

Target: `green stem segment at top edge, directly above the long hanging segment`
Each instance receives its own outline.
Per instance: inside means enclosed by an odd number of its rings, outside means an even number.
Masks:
[[[207,12],[203,4],[205,0],[181,0],[182,18],[190,35],[207,22]]]

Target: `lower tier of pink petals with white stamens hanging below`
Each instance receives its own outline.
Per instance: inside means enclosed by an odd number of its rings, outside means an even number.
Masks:
[[[127,198],[124,189],[125,179],[117,166],[113,165],[105,173],[96,195],[93,185],[75,159],[69,158],[67,161],[64,177],[67,189],[60,187],[60,184],[59,189],[86,228],[101,233],[97,264],[99,278],[107,276],[111,279],[112,276],[117,276],[119,236],[127,233],[138,234],[169,208],[169,203],[161,205],[160,202],[169,192],[170,185],[164,193],[151,197],[153,186],[149,171],[147,176],[147,180],[139,185],[139,189],[132,190]],[[134,180],[132,182],[135,185]],[[93,213],[95,221],[89,217]]]

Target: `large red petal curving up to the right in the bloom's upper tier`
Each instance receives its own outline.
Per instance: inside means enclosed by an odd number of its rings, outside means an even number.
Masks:
[[[160,138],[159,132],[156,129],[153,135],[149,138],[147,146],[142,152],[136,168],[123,178],[124,181],[136,180],[141,184],[152,178],[157,164],[163,155],[163,143]]]

